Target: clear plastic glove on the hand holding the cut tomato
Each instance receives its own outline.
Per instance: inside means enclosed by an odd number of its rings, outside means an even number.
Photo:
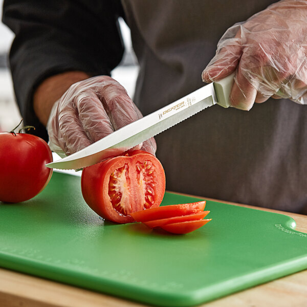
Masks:
[[[142,117],[116,80],[108,76],[89,78],[71,85],[53,105],[47,124],[49,145],[61,157],[71,155]],[[135,149],[154,155],[155,139]],[[110,156],[119,153],[114,151]]]

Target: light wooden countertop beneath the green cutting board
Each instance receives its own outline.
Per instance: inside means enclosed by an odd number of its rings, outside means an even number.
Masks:
[[[216,200],[213,200],[216,201]],[[224,202],[224,201],[223,201]],[[232,205],[251,207],[242,204]],[[257,208],[289,215],[296,230],[307,233],[307,215]],[[0,306],[2,307],[137,307],[144,304],[127,301],[58,282],[0,269]],[[307,306],[307,270],[203,304],[206,307],[305,307]]]

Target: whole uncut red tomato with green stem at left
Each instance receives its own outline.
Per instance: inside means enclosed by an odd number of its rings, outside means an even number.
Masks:
[[[0,133],[0,201],[19,203],[41,192],[48,184],[52,169],[48,144],[25,133]]]

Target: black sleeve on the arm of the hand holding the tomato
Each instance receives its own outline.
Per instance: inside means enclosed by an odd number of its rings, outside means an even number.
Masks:
[[[3,23],[14,33],[10,69],[24,123],[48,140],[34,114],[35,88],[49,76],[79,70],[109,75],[123,55],[119,0],[4,0]]]

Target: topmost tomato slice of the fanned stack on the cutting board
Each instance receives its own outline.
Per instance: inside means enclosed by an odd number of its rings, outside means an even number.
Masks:
[[[200,211],[204,211],[205,206],[206,201],[201,201],[190,204],[168,205],[159,208],[150,208],[147,210],[131,212],[130,215],[136,222],[147,222],[153,220],[161,220],[162,218],[198,213]]]

